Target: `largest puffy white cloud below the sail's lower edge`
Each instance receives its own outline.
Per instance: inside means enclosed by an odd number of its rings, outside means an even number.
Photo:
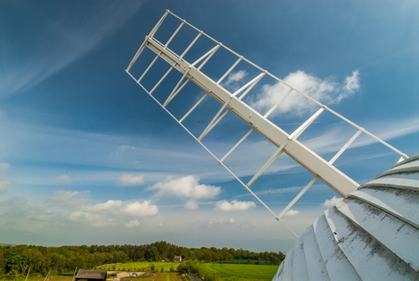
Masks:
[[[158,190],[157,196],[177,196],[190,199],[214,198],[220,193],[221,187],[200,185],[199,178],[188,175],[183,178],[168,178],[150,187]]]

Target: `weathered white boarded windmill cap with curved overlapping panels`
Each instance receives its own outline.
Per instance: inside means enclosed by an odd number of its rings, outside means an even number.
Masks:
[[[419,280],[418,226],[419,154],[326,210],[273,280]]]

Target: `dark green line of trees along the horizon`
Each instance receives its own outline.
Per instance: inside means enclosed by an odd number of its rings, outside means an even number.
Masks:
[[[81,245],[43,247],[35,245],[0,246],[0,275],[15,278],[17,275],[38,273],[46,275],[71,273],[75,268],[92,269],[103,264],[126,261],[173,261],[175,256],[198,261],[226,261],[251,259],[279,264],[285,258],[282,252],[250,252],[233,248],[186,248],[159,241],[147,245]]]

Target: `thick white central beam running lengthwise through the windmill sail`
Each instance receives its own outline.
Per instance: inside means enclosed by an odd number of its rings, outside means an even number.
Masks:
[[[280,147],[282,143],[288,142],[284,148],[284,152],[291,158],[297,161],[301,166],[306,168],[308,171],[316,175],[318,179],[323,181],[330,188],[335,190],[339,195],[346,196],[350,192],[353,192],[359,185],[357,182],[349,178],[347,175],[339,171],[335,166],[332,166],[319,157],[316,153],[309,150],[308,147],[302,145],[302,143],[290,139],[290,136],[277,127],[277,125],[267,120],[256,110],[251,108],[247,103],[244,103],[237,97],[233,96],[228,90],[217,85],[212,79],[207,77],[204,73],[198,71],[198,69],[191,66],[184,59],[180,59],[172,52],[164,48],[162,45],[148,38],[147,46],[154,50],[157,54],[161,54],[161,57],[165,59],[169,64],[175,67],[181,73],[186,73],[189,79],[201,87],[205,92],[208,92],[217,101],[222,104],[228,103],[227,107],[239,116],[244,122],[247,122],[251,127],[258,131],[262,136],[267,138],[269,141]]]

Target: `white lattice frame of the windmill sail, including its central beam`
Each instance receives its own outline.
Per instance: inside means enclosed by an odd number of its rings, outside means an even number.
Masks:
[[[174,31],[174,33],[170,36],[168,41],[163,44],[160,43],[156,38],[154,38],[154,34],[156,34],[156,31],[159,29],[163,21],[166,19],[168,15],[172,15],[177,20],[180,21],[179,26]],[[175,52],[172,52],[168,48],[172,40],[175,38],[175,36],[178,34],[178,32],[182,29],[184,26],[189,26],[193,30],[197,31],[198,34],[193,39],[193,41],[188,45],[188,47],[182,52],[181,55],[175,54]],[[192,48],[192,46],[198,41],[200,36],[205,36],[206,38],[209,38],[210,41],[213,41],[215,43],[214,48],[206,52],[203,56],[201,56],[199,59],[197,59],[192,64],[189,64],[186,62],[184,56],[186,53]],[[145,50],[145,48],[149,48],[153,52],[156,53],[156,57],[152,60],[152,62],[147,66],[145,71],[140,75],[139,78],[135,78],[133,74],[130,73],[130,69],[132,68],[133,64],[137,61],[138,57],[142,54],[142,52]],[[224,73],[219,80],[214,82],[210,78],[207,78],[206,75],[204,75],[200,69],[211,59],[211,57],[216,53],[219,48],[224,48],[225,50],[228,50],[228,52],[232,53],[237,57],[237,60],[235,63],[230,66],[230,69]],[[152,69],[152,66],[154,66],[157,59],[164,59],[168,64],[170,64],[170,68],[166,73],[163,75],[163,77],[152,87],[152,89],[148,90],[144,85],[142,85],[141,81],[143,78],[145,78],[145,75],[149,72],[150,69]],[[228,92],[228,90],[224,89],[220,86],[220,83],[235,69],[235,67],[240,62],[246,62],[247,64],[250,64],[251,66],[255,67],[261,73],[257,75],[255,78],[247,82],[244,86],[240,87],[240,89],[237,89],[233,94]],[[199,64],[199,66],[198,66]],[[197,66],[197,67],[196,67]],[[153,92],[161,85],[161,82],[166,79],[168,74],[173,70],[177,69],[180,73],[182,73],[182,78],[177,82],[177,85],[175,85],[174,89],[172,89],[172,92],[168,95],[166,98],[166,101],[160,103],[156,97],[153,96]],[[380,138],[374,136],[373,134],[369,133],[369,131],[366,131],[362,127],[358,126],[357,124],[351,122],[350,120],[346,119],[345,117],[339,115],[339,113],[336,113],[334,110],[331,110],[327,106],[323,105],[322,103],[316,101],[315,99],[311,98],[311,96],[307,96],[307,94],[304,94],[303,92],[300,92],[298,89],[295,89],[291,85],[288,85],[288,83],[282,81],[281,79],[277,78],[276,76],[268,73],[267,71],[261,69],[256,64],[253,64],[248,59],[245,59],[241,55],[238,55],[233,50],[230,50],[220,42],[216,41],[214,38],[208,36],[203,31],[200,31],[196,27],[193,27],[193,25],[189,24],[185,20],[182,20],[177,15],[171,13],[169,10],[166,10],[166,13],[161,17],[159,22],[157,22],[156,26],[150,31],[149,35],[145,37],[145,41],[140,45],[140,48],[135,53],[133,59],[131,60],[130,64],[128,64],[128,67],[126,69],[126,73],[135,80],[135,82],[142,87],[142,89],[149,94],[149,96],[152,96],[152,99],[156,101],[156,103],[159,103],[159,105],[166,110],[166,112],[177,121],[177,123],[183,127],[186,132],[188,132],[200,145],[202,145],[207,152],[209,152],[216,161],[221,164],[226,170],[233,175],[233,177],[240,182],[240,184],[247,189],[251,195],[253,195],[269,212],[274,215],[275,219],[279,220],[282,224],[281,217],[283,217],[288,210],[297,202],[300,197],[307,192],[307,190],[316,182],[316,180],[320,179],[322,180],[326,185],[328,185],[330,188],[332,188],[335,192],[337,192],[339,195],[346,197],[346,195],[353,190],[355,190],[359,185],[357,182],[353,181],[351,178],[349,178],[347,175],[339,171],[335,166],[332,164],[338,159],[338,157],[355,141],[360,134],[364,133],[367,136],[372,137],[375,141],[378,143],[382,143],[386,147],[390,148],[390,150],[396,152],[400,155],[400,159],[407,158],[407,155],[403,152],[400,152],[395,147],[392,147],[388,143],[385,143]],[[270,108],[270,110],[265,113],[265,115],[260,115],[256,110],[251,108],[247,103],[244,103],[242,99],[244,96],[246,96],[253,87],[262,79],[265,75],[268,75],[270,78],[274,78],[274,80],[277,80],[277,82],[280,82],[282,85],[285,85],[288,87],[288,92],[284,94],[284,96],[281,97],[281,99],[275,103],[275,105]],[[188,112],[179,120],[177,117],[175,117],[170,111],[166,108],[168,106],[168,103],[174,99],[179,92],[184,89],[186,84],[192,81],[196,85],[198,85],[200,88],[202,88],[205,91],[205,94],[188,110]],[[309,119],[307,119],[299,128],[297,128],[292,134],[288,135],[285,131],[277,127],[275,124],[270,122],[270,120],[267,120],[267,117],[276,109],[278,106],[292,93],[295,92],[297,94],[300,94],[304,96],[306,99],[309,99],[310,101],[316,103],[318,106],[320,106],[320,109],[314,113]],[[203,130],[203,132],[200,134],[200,136],[196,137],[189,129],[187,129],[183,122],[184,120],[189,117],[189,115],[195,110],[208,96],[212,96],[216,101],[219,101],[222,106],[220,110],[214,115],[212,120],[209,124],[207,124],[207,127]],[[339,119],[343,120],[344,122],[350,124],[352,127],[355,127],[355,129],[358,129],[358,131],[351,137],[351,139],[348,140],[348,142],[341,147],[341,149],[335,154],[330,161],[325,161],[321,157],[319,157],[316,153],[309,150],[309,148],[302,145],[302,143],[297,141],[297,138],[306,130],[313,122],[318,118],[321,113],[323,113],[325,110],[327,110],[329,113],[332,113],[333,115],[339,117]],[[203,143],[202,140],[205,138],[205,136],[214,128],[217,124],[225,117],[229,112],[233,112],[235,115],[240,117],[244,122],[249,124],[251,129],[245,134],[240,141],[238,141],[233,147],[230,148],[230,150],[223,156],[221,159],[216,157],[214,153],[211,152],[210,149],[208,149]],[[224,161],[232,154],[237,147],[239,147],[254,131],[258,131],[259,134],[261,134],[263,137],[265,137],[268,141],[273,143],[277,146],[277,150],[271,155],[271,157],[259,168],[259,170],[253,175],[251,180],[247,182],[246,184],[240,180],[240,178],[233,173],[233,171],[224,164]],[[310,180],[310,182],[295,196],[295,198],[288,203],[288,205],[282,210],[279,215],[277,215],[269,206],[267,206],[254,192],[251,191],[250,187],[253,185],[253,183],[261,176],[267,168],[269,168],[274,161],[277,160],[278,157],[280,157],[283,153],[288,154],[292,159],[297,161],[301,166],[307,169],[310,173],[314,174],[314,178]],[[297,237],[295,232],[290,229],[286,224],[286,229],[293,233],[294,236]]]

